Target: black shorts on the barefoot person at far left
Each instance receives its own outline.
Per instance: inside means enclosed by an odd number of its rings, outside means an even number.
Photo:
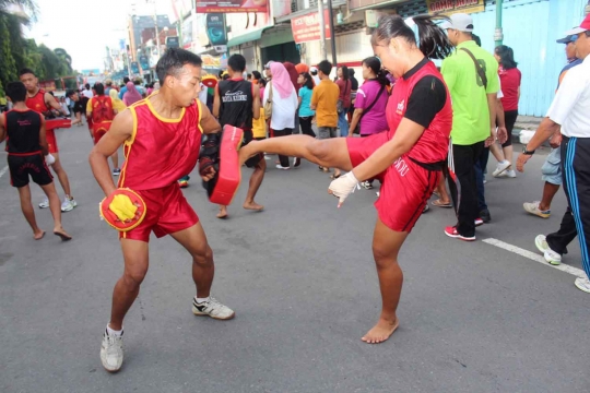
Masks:
[[[10,183],[12,187],[21,188],[27,186],[28,175],[31,175],[33,181],[39,186],[47,186],[54,181],[54,177],[40,153],[32,155],[9,154],[8,162]]]

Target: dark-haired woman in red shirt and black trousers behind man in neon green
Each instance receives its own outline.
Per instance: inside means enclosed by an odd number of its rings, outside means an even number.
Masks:
[[[506,45],[497,46],[494,50],[494,57],[499,63],[498,74],[500,76],[502,93],[504,93],[504,98],[500,100],[504,107],[506,130],[508,131],[508,139],[502,144],[502,147],[504,157],[512,163],[512,129],[518,118],[518,99],[520,98],[520,80],[522,76],[517,68],[518,63],[515,61],[512,48]],[[515,178],[516,172],[514,169],[508,169],[498,177]]]

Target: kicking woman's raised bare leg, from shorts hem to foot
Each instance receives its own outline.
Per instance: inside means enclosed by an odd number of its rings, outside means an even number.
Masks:
[[[239,150],[240,164],[263,152],[305,158],[322,167],[353,168],[345,138],[317,140],[308,135],[288,135],[252,141]]]

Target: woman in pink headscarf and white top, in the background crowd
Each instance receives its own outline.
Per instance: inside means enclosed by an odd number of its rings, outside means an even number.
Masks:
[[[293,64],[291,64],[293,67]],[[274,136],[284,136],[293,133],[295,128],[295,115],[297,111],[297,93],[291,81],[288,71],[280,62],[272,62],[267,69],[267,76],[272,78],[264,90],[263,103],[272,95],[272,112],[270,127],[274,131]],[[293,71],[295,68],[293,67]],[[296,71],[295,71],[296,72]],[[295,81],[297,83],[297,81]],[[279,156],[281,164],[278,169],[290,169],[287,156]]]

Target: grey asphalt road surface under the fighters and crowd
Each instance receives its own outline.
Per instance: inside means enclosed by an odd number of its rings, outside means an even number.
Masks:
[[[590,389],[590,296],[573,275],[482,241],[536,253],[534,237],[558,228],[563,192],[550,219],[522,211],[540,198],[546,152],[517,179],[489,178],[493,222],[476,242],[445,236],[451,210],[433,207],[418,221],[400,255],[401,325],[380,345],[361,341],[380,309],[375,192],[359,190],[337,210],[327,175],[309,163],[276,170],[273,157],[257,198],[264,212],[240,207],[244,168],[231,218],[219,221],[194,176],[185,192],[214,250],[213,294],[237,317],[193,317],[189,255],[169,237],[153,238],[150,272],[125,323],[125,365],[109,374],[98,355],[121,253],[117,234],[98,219],[103,194],[87,165],[86,129],[60,130],[58,139],[79,203],[63,214],[72,241],[34,241],[9,175],[0,177],[1,392]],[[4,163],[0,153],[0,174]],[[38,203],[40,189],[33,192]],[[51,229],[49,211],[36,213]],[[564,262],[580,266],[577,242]]]

